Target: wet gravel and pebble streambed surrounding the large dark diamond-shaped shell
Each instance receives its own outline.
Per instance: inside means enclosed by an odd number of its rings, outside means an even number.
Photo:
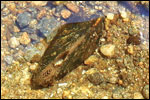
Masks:
[[[148,9],[147,1],[2,1],[1,98],[149,99]],[[32,74],[54,30],[101,16],[105,30],[93,55],[53,86],[33,90]],[[115,49],[101,52],[108,44]]]

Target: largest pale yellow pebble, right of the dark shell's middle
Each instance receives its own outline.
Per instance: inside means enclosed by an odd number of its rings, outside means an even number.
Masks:
[[[106,44],[100,47],[100,51],[103,55],[107,57],[112,57],[115,54],[115,45]]]

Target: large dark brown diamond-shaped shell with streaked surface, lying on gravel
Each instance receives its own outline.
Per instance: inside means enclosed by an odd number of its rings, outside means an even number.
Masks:
[[[98,46],[104,18],[61,26],[39,61],[32,87],[52,85],[78,67]],[[59,62],[59,64],[57,64]]]

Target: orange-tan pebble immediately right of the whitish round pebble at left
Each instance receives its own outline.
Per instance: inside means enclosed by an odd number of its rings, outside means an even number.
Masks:
[[[27,45],[27,44],[30,43],[30,41],[31,41],[31,39],[30,39],[28,33],[27,33],[27,32],[24,32],[24,33],[22,34],[22,36],[20,37],[20,43],[21,43],[21,44],[24,44],[24,45]]]

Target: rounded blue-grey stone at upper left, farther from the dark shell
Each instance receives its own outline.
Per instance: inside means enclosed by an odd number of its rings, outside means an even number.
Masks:
[[[31,14],[28,12],[20,13],[17,16],[17,24],[19,25],[19,28],[27,27],[30,21],[31,21]]]

